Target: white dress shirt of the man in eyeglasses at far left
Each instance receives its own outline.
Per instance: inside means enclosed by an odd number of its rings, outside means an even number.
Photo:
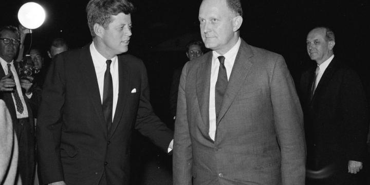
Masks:
[[[1,65],[4,69],[5,75],[8,75],[8,65],[7,65],[8,62],[6,62],[1,57],[0,57],[0,62],[1,62]],[[16,111],[16,104],[15,104],[14,94],[12,93],[11,95],[12,95],[12,98],[13,98],[17,119],[28,118],[28,110],[27,110],[26,102],[25,102],[24,97],[23,97],[21,82],[20,82],[20,79],[18,78],[17,72],[16,72],[15,67],[14,67],[14,61],[11,61],[9,64],[11,65],[10,70],[13,73],[14,82],[15,82],[16,90],[18,92],[18,96],[20,97],[20,99],[22,101],[22,105],[23,105],[23,113],[22,114],[18,113],[18,111]],[[27,97],[30,98],[31,95],[27,96]]]

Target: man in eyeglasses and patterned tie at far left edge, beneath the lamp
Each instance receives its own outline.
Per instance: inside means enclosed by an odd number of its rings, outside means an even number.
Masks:
[[[0,28],[0,99],[9,109],[13,129],[18,139],[18,174],[23,184],[33,184],[35,163],[34,126],[32,109],[37,107],[35,93],[32,93],[32,77],[20,79],[16,72],[14,58],[19,49],[20,34],[17,28]]]

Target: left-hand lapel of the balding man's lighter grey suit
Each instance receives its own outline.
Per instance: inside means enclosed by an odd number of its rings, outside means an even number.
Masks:
[[[209,95],[210,95],[210,81],[211,81],[211,66],[212,66],[212,52],[207,53],[206,60],[202,61],[200,67],[197,69],[196,81],[196,93],[198,97],[200,115],[203,123],[207,127],[208,135],[209,131]]]

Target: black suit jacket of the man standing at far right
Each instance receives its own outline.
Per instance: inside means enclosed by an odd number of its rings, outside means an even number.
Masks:
[[[348,160],[364,161],[368,131],[365,93],[356,72],[335,57],[310,100],[315,69],[305,71],[301,79],[308,167],[319,170],[331,165],[338,179],[346,178]]]

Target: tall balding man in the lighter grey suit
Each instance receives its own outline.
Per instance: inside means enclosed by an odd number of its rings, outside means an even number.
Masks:
[[[204,0],[212,49],[182,70],[174,184],[304,184],[302,109],[281,55],[239,38],[240,1]]]

